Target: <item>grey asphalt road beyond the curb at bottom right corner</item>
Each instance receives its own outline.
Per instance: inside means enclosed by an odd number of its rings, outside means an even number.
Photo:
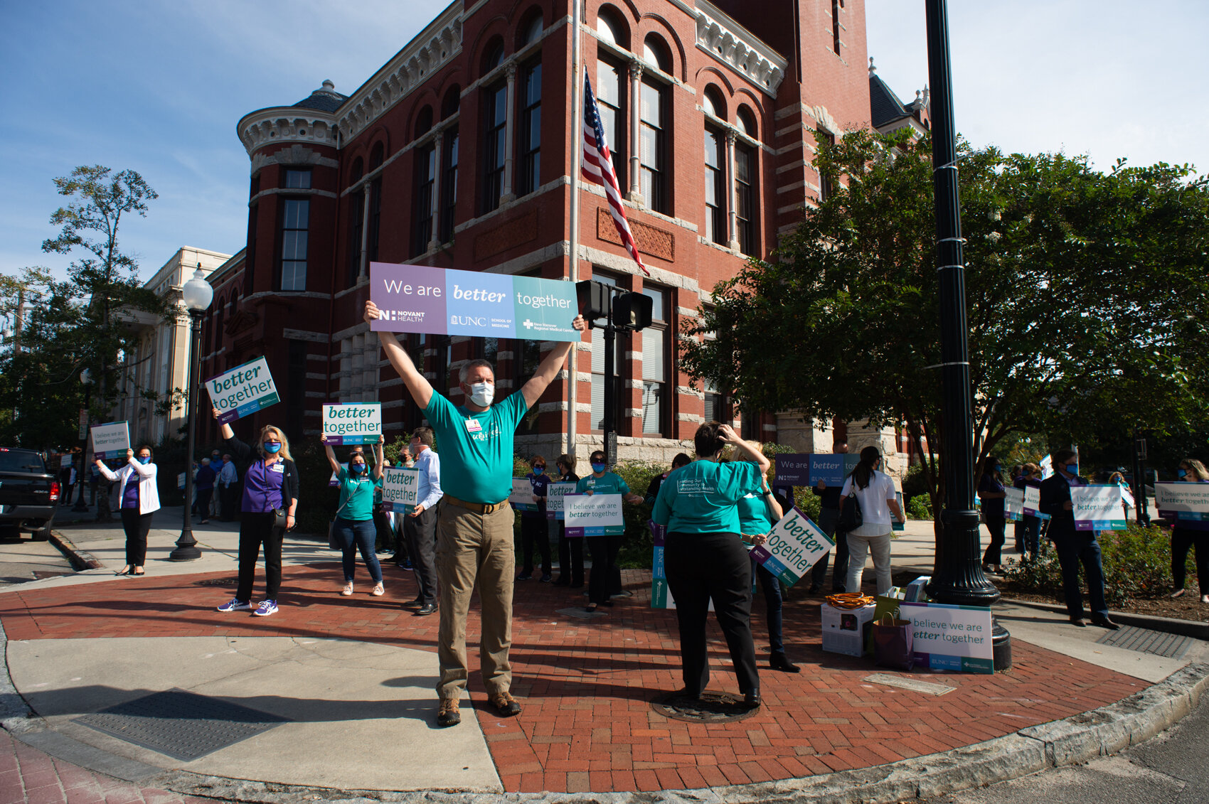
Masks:
[[[1209,695],[1165,734],[1077,768],[1048,770],[926,804],[1205,804],[1209,802]]]

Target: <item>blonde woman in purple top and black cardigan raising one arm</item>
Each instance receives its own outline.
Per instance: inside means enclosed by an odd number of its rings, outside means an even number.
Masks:
[[[214,418],[219,417],[218,407]],[[241,461],[253,457],[253,447],[235,436],[230,424],[221,433],[227,450]],[[290,443],[278,428],[260,429],[255,447],[259,459],[244,473],[243,504],[239,507],[239,585],[235,597],[219,606],[220,612],[251,609],[251,584],[256,574],[260,545],[265,545],[265,600],[255,614],[277,613],[277,591],[282,585],[282,539],[294,527],[299,498],[299,470],[290,457]]]

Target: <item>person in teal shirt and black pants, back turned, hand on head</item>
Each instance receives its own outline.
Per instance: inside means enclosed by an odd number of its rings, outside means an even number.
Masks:
[[[710,422],[693,438],[696,459],[659,487],[652,517],[667,528],[664,569],[676,600],[684,695],[700,698],[710,682],[705,623],[710,601],[730,649],[739,690],[759,706],[759,671],[752,642],[752,567],[740,539],[737,503],[764,491],[769,462],[727,424]],[[719,463],[733,444],[744,461]]]

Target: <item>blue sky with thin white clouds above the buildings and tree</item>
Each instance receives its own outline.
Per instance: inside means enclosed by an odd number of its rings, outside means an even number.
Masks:
[[[818,0],[821,1],[821,0]],[[181,245],[235,253],[247,225],[239,117],[324,79],[349,93],[444,7],[416,0],[0,0],[0,272],[42,254],[77,164],[132,168],[160,193],[122,248],[149,278]],[[1008,151],[1089,154],[1099,167],[1209,169],[1209,4],[950,0],[958,129]],[[921,0],[867,0],[869,52],[904,100],[927,81]]]

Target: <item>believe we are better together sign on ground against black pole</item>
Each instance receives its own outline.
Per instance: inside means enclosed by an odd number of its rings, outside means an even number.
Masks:
[[[898,617],[912,623],[915,664],[929,670],[995,672],[989,608],[903,601]]]

